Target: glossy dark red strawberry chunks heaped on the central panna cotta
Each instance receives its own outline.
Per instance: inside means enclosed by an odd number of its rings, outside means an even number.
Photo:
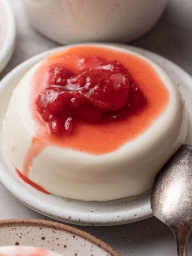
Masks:
[[[50,134],[73,131],[74,119],[98,123],[122,119],[147,100],[126,68],[118,61],[87,57],[78,72],[64,65],[52,65],[45,90],[36,106],[48,124]]]

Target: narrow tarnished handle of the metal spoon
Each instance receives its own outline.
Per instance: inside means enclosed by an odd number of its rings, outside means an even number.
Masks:
[[[188,255],[188,239],[191,229],[188,227],[172,228],[176,242],[177,242],[177,255]]]

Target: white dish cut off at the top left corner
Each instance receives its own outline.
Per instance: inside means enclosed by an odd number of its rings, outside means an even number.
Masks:
[[[0,73],[14,51],[16,22],[9,1],[0,0]]]

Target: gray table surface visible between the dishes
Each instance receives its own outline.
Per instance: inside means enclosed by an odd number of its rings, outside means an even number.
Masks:
[[[17,18],[18,37],[14,54],[6,69],[1,73],[0,79],[29,57],[58,46],[30,27],[19,0],[9,1],[12,3]],[[169,0],[166,12],[159,23],[150,33],[132,42],[132,45],[167,57],[192,75],[191,24],[192,1]],[[51,220],[20,204],[0,184],[0,219],[7,218]],[[176,255],[172,232],[154,217],[121,226],[75,227],[102,239],[123,256]],[[189,255],[192,255],[192,235],[189,240]]]

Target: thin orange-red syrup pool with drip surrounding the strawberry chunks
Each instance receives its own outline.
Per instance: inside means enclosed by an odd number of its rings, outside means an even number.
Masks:
[[[139,111],[133,111],[119,120],[100,120],[96,124],[81,119],[73,120],[73,131],[67,136],[51,134],[47,122],[36,109],[36,100],[49,81],[50,67],[65,66],[78,73],[82,58],[102,56],[106,61],[118,60],[132,79],[139,85],[147,98],[147,104]],[[169,101],[169,92],[154,69],[140,57],[133,54],[97,46],[79,46],[48,56],[38,66],[31,81],[30,107],[36,121],[36,134],[26,153],[23,174],[27,177],[33,159],[47,145],[71,148],[90,154],[104,154],[118,150],[124,143],[144,132],[163,112]]]

